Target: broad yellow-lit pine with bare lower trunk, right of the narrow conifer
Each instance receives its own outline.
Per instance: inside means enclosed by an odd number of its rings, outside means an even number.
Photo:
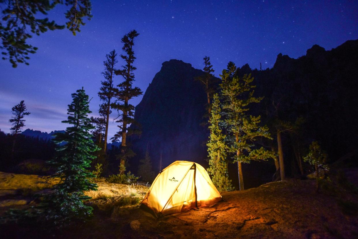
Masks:
[[[223,70],[220,84],[223,97],[224,123],[230,142],[230,150],[235,153],[234,162],[238,164],[238,176],[240,190],[244,189],[242,163],[249,163],[251,160],[272,158],[272,152],[261,147],[255,149],[255,142],[258,138],[270,138],[268,128],[259,126],[261,116],[247,114],[249,105],[258,103],[263,97],[254,97],[256,86],[251,85],[253,77],[235,75],[236,66],[229,62],[227,70]]]

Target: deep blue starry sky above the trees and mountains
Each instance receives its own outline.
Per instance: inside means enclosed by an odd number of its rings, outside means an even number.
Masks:
[[[105,55],[122,52],[121,38],[132,29],[140,33],[134,51],[136,82],[143,91],[169,59],[203,68],[210,56],[218,76],[228,61],[251,68],[272,67],[279,53],[297,58],[314,44],[330,50],[358,39],[358,1],[92,1],[91,21],[73,36],[67,29],[47,32],[30,40],[37,46],[30,65],[12,68],[0,60],[0,129],[10,132],[11,107],[25,100],[26,128],[50,132],[65,129],[71,93],[84,86],[97,92]],[[50,14],[63,24],[64,6]],[[123,63],[121,59],[118,67]],[[116,76],[115,83],[122,81]],[[141,97],[132,100],[137,105]],[[115,116],[115,113],[112,115]],[[113,118],[113,117],[112,117]],[[110,137],[116,131],[110,123]]]

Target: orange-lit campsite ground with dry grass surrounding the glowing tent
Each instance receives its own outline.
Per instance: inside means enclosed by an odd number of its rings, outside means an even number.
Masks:
[[[55,181],[0,173],[0,214],[34,204],[34,191]],[[94,215],[86,223],[50,233],[6,224],[3,238],[358,238],[357,198],[316,193],[314,180],[271,182],[223,192],[225,201],[156,219],[137,207],[147,187],[99,182],[90,192]],[[349,204],[350,202],[350,204]],[[353,202],[353,204],[352,204]],[[132,205],[128,205],[132,204]],[[134,205],[133,205],[134,204]]]

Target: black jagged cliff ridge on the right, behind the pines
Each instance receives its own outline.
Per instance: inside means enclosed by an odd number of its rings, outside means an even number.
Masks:
[[[348,40],[329,51],[314,45],[297,59],[280,53],[272,69],[249,72],[267,105],[281,100],[282,119],[304,117],[305,143],[319,140],[332,162],[357,148],[357,64],[358,40]]]

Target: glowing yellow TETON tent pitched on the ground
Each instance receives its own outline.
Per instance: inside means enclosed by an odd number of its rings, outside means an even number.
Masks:
[[[158,216],[206,207],[218,201],[221,195],[200,164],[175,161],[156,176],[141,204]]]

